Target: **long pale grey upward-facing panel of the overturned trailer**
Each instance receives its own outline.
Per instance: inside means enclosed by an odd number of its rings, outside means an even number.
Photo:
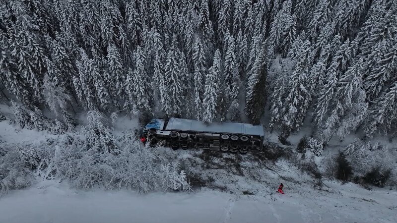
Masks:
[[[198,120],[184,118],[170,118],[166,130],[185,130],[198,132],[217,132],[217,133],[235,133],[264,136],[262,125],[252,125],[247,123],[229,123],[213,122],[206,124]]]

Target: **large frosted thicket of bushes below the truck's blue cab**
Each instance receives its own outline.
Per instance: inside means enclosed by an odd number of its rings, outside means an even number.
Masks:
[[[119,142],[120,152],[112,154],[98,153],[95,145],[103,145],[103,142],[66,137],[55,149],[54,162],[58,177],[83,189],[94,186],[131,188],[143,193],[190,189],[179,160],[160,155],[156,148],[141,147],[135,138],[132,132],[125,133]],[[103,138],[94,137],[94,140],[101,141]]]

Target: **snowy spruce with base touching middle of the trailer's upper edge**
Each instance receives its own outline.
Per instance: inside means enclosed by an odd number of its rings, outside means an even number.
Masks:
[[[218,83],[220,79],[221,61],[220,51],[216,50],[213,64],[205,77],[203,115],[202,120],[211,123],[216,117],[216,103],[218,97]]]

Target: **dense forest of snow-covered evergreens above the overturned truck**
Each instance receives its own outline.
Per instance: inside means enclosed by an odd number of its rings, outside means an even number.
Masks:
[[[0,89],[59,125],[126,111],[393,135],[397,0],[0,0]]]

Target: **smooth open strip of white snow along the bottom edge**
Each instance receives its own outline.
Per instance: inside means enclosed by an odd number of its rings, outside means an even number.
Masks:
[[[1,223],[395,223],[397,192],[354,184],[284,195],[81,191],[45,181],[0,199]]]

